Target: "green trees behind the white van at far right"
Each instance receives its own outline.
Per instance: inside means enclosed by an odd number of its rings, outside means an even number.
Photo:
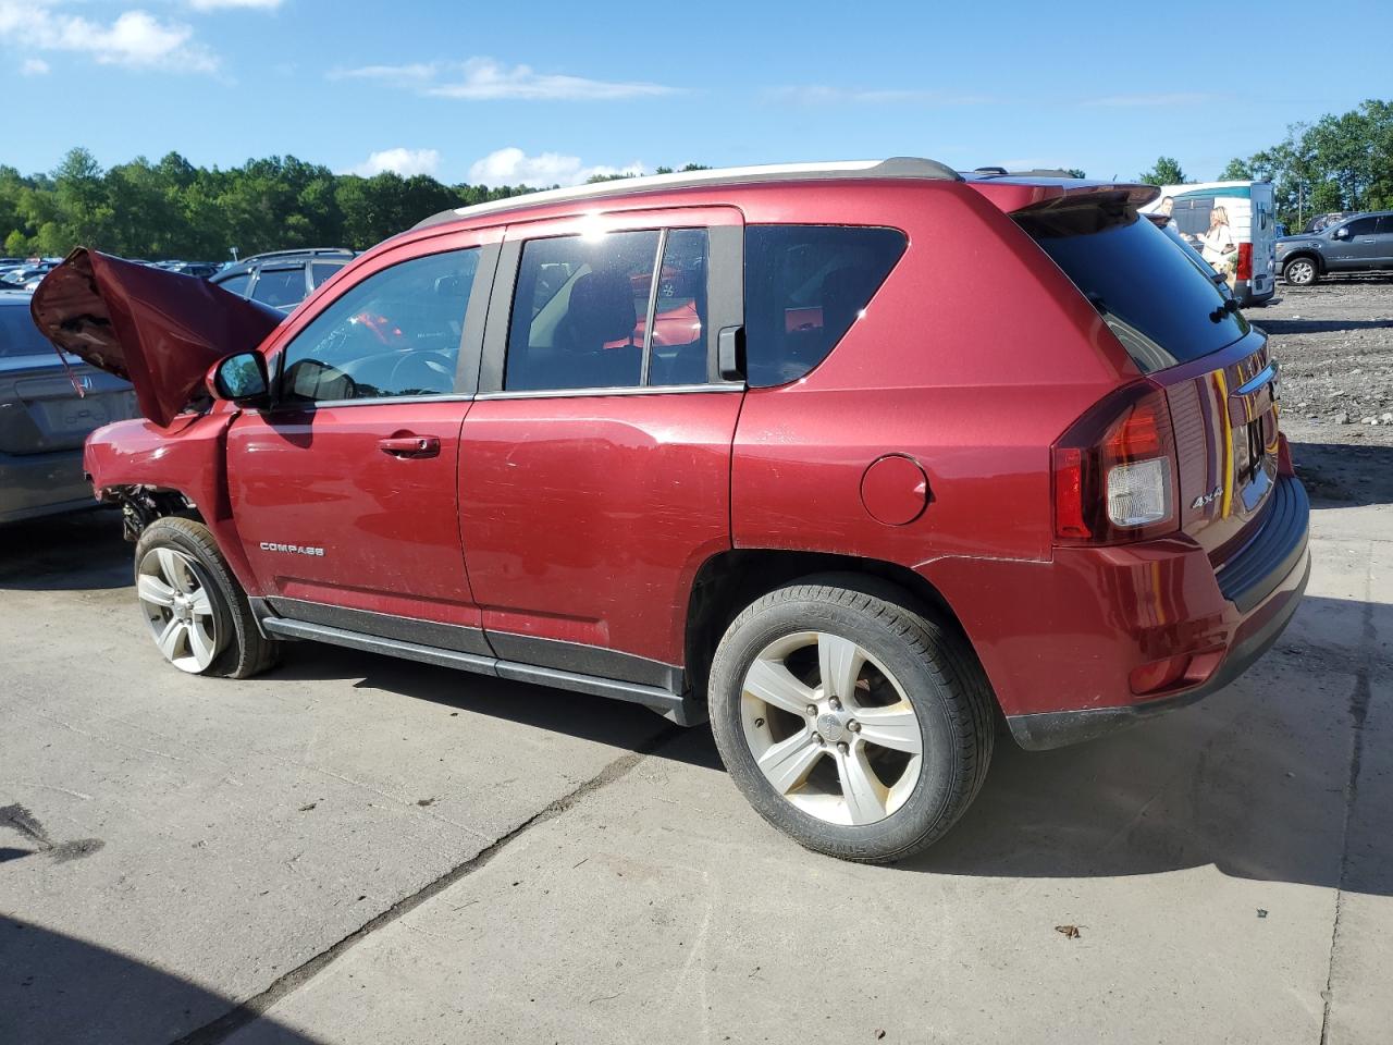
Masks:
[[[1174,185],[1188,178],[1173,157],[1160,156],[1138,180]],[[1219,180],[1270,181],[1277,220],[1293,231],[1332,210],[1393,210],[1393,102],[1371,99],[1291,124],[1276,145],[1229,160]]]

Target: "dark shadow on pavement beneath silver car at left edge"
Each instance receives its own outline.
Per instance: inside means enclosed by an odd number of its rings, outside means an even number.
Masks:
[[[131,545],[114,509],[0,524],[0,589],[77,591],[131,584]]]

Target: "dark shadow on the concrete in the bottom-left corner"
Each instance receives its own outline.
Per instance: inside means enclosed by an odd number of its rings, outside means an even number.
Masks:
[[[160,1045],[235,1006],[125,954],[0,917],[0,1042],[7,1045]],[[276,1032],[286,1045],[316,1045],[286,1027]]]

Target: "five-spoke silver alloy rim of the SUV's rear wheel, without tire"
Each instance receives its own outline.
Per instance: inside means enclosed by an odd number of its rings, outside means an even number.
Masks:
[[[745,673],[740,702],[755,764],[802,812],[864,826],[914,791],[924,761],[918,713],[855,641],[800,631],[770,642]]]

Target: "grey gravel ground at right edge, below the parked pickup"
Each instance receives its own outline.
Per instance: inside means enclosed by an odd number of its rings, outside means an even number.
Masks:
[[[1336,277],[1277,294],[1247,316],[1272,336],[1282,362],[1287,436],[1393,444],[1393,279]]]

